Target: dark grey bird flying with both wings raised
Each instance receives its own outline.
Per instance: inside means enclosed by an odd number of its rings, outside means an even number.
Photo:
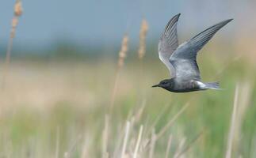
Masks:
[[[179,13],[170,19],[159,40],[159,58],[170,71],[171,78],[160,81],[158,85],[152,87],[165,88],[170,92],[220,89],[219,82],[201,81],[197,52],[232,19],[221,21],[178,46],[177,22],[180,15]]]

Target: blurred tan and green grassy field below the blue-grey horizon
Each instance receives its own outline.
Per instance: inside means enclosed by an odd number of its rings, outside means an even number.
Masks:
[[[106,114],[116,60],[13,59],[0,95],[1,157],[101,157],[104,149],[110,157],[120,157],[127,121],[126,157],[134,153],[141,125],[139,157],[164,157],[170,134],[170,157],[224,157],[236,84],[240,112],[232,157],[255,157],[256,68],[246,56],[219,49],[210,44],[198,62],[204,81],[220,81],[222,91],[177,94],[151,88],[169,77],[157,54],[151,52],[154,58],[144,58],[143,66],[137,58],[128,58],[111,116]],[[152,144],[155,134],[185,105]]]

